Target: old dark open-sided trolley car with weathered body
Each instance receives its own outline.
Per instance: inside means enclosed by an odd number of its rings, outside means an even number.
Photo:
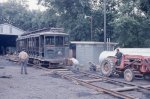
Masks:
[[[69,52],[69,35],[62,28],[24,33],[17,38],[17,51],[25,49],[29,64],[47,68],[64,66]]]

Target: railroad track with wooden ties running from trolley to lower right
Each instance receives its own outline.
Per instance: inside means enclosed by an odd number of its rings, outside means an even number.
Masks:
[[[44,69],[46,71],[51,71],[51,74],[59,75],[62,78],[71,80],[76,84],[88,87],[99,93],[106,93],[121,99],[139,99],[138,97],[123,94],[122,92],[131,91],[131,90],[149,91],[150,89],[150,85],[140,86],[130,82],[123,82],[123,81],[118,81],[111,78],[103,77],[98,74],[92,74],[87,72],[72,72],[67,69],[46,69],[43,67],[38,67],[38,68]],[[110,88],[105,88],[102,86],[95,85],[94,82],[111,83],[121,87],[110,89]]]

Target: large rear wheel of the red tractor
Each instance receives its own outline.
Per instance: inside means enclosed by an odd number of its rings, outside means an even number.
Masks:
[[[114,62],[109,58],[104,59],[101,63],[100,70],[103,76],[111,76],[115,71]]]

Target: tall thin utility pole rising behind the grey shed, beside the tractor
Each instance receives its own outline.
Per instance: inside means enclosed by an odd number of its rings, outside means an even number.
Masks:
[[[106,50],[106,0],[104,0],[104,50]]]

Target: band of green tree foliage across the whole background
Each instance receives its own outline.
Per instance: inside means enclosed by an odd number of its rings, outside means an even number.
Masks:
[[[30,11],[24,2],[0,4],[0,23],[26,31],[63,27],[71,40],[104,41],[103,0],[38,0],[48,9]],[[120,47],[150,47],[150,1],[106,0],[107,37]],[[89,17],[85,17],[89,16]],[[91,20],[92,19],[92,20]]]

